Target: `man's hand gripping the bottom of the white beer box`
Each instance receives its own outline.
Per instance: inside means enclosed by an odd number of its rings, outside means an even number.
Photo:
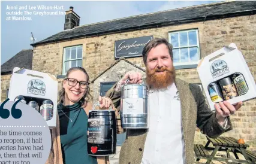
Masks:
[[[243,102],[240,101],[236,105],[231,105],[230,102],[224,101],[219,102],[219,106],[217,104],[214,105],[216,109],[216,119],[222,125],[227,116],[233,115],[242,107]],[[221,109],[219,108],[221,107]]]

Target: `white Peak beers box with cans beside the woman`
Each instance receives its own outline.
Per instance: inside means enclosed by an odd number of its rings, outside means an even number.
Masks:
[[[22,98],[35,108],[50,128],[56,127],[58,81],[54,75],[15,67],[8,92],[10,101]]]

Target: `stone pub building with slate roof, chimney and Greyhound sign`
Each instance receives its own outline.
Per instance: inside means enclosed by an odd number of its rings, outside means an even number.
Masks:
[[[31,44],[33,50],[20,51],[1,66],[1,101],[7,98],[14,66],[53,74],[59,88],[69,68],[83,66],[97,99],[125,72],[145,75],[141,51],[152,38],[166,38],[173,45],[177,77],[189,83],[201,86],[198,60],[231,42],[242,51],[256,80],[255,13],[256,1],[228,1],[80,25],[79,13],[70,7],[63,31]],[[224,135],[243,138],[256,150],[256,99],[245,102],[231,120],[234,130]],[[119,145],[124,138],[118,136]],[[206,141],[195,129],[195,142]]]

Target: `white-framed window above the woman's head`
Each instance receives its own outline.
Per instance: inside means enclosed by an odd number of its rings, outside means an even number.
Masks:
[[[76,66],[82,66],[82,45],[65,47],[63,56],[63,70],[62,74],[65,75],[68,69]]]

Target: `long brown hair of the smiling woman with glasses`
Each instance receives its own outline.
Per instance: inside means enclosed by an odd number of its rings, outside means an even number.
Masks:
[[[73,67],[73,68],[70,68],[68,69],[68,72],[67,72],[67,75],[66,77],[68,77],[68,75],[70,75],[70,72],[72,71],[77,71],[77,70],[80,70],[82,71],[83,73],[85,73],[86,77],[88,77],[88,82],[89,82],[89,75],[87,74],[87,72],[85,71],[84,68],[80,67],[80,66],[77,66],[77,67]],[[80,103],[81,105],[83,106],[85,104],[85,102],[89,102],[92,100],[92,95],[90,94],[90,87],[88,86],[86,88],[86,93],[85,93],[85,96],[83,96],[81,99],[80,99]],[[59,90],[59,98],[58,98],[58,103],[64,103],[65,102],[65,90],[64,88],[62,87],[61,90]]]

